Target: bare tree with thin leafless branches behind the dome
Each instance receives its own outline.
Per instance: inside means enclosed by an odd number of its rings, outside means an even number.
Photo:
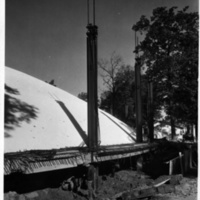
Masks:
[[[121,67],[121,65],[122,65],[122,58],[115,52],[112,53],[110,60],[100,59],[98,62],[98,66],[102,71],[101,77],[103,78],[103,84],[107,87],[110,93],[110,98],[111,98],[110,112],[113,115],[115,115],[115,96],[116,96],[116,88],[114,87],[115,78],[117,71]]]

